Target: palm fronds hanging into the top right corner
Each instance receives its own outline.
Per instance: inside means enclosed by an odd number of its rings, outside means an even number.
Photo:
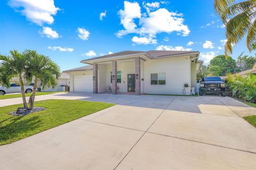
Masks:
[[[214,0],[214,9],[226,25],[225,55],[246,36],[246,46],[251,52],[256,41],[256,0],[235,3],[235,0]]]

